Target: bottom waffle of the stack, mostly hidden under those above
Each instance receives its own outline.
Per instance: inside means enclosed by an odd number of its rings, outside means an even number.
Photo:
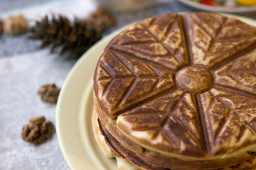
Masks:
[[[100,119],[98,119],[96,110],[94,110],[92,115],[92,123],[93,123],[93,130],[95,132],[95,137],[102,151],[105,153],[107,157],[110,157],[110,158],[114,157],[117,159],[117,166],[119,170],[133,170],[133,169],[134,170],[135,169],[136,170],[139,170],[139,169],[168,170],[167,168],[159,166],[159,165],[161,166],[164,165],[162,162],[169,162],[170,164],[173,164],[172,167],[174,169],[191,169],[191,170],[206,169],[206,166],[208,166],[207,169],[214,169],[213,167],[225,166],[224,168],[218,168],[219,170],[255,170],[256,169],[256,168],[255,169],[252,168],[256,166],[255,152],[252,152],[252,154],[250,153],[243,154],[240,157],[234,157],[231,159],[215,160],[213,162],[207,162],[207,161],[206,162],[182,162],[178,159],[170,159],[170,158],[163,160],[162,159],[163,157],[161,156],[159,157],[159,155],[155,153],[151,153],[151,157],[145,159],[146,155],[143,155],[140,153],[136,154],[131,150],[127,149],[125,145],[122,145],[120,142],[118,142],[117,138],[113,137],[110,134],[110,132],[108,132],[108,130],[105,128],[105,126],[102,124]],[[148,152],[148,151],[144,149],[144,152]],[[153,164],[144,162],[144,160],[148,161],[150,158],[153,158],[155,160]],[[174,162],[175,162],[175,165],[174,165]],[[234,162],[239,162],[239,163],[234,164]],[[212,165],[210,166],[210,164]],[[233,164],[233,165],[230,166],[230,164]]]

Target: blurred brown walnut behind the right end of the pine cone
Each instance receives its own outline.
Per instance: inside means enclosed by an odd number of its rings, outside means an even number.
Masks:
[[[114,26],[114,20],[111,14],[102,8],[97,8],[95,12],[90,13],[85,21],[100,35],[102,31]]]

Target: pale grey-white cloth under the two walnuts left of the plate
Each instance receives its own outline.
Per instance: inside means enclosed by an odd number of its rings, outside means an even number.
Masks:
[[[34,146],[21,139],[21,131],[39,115],[55,124],[55,105],[41,101],[37,89],[52,82],[61,86],[74,63],[48,50],[0,60],[0,169],[68,169],[56,133]]]

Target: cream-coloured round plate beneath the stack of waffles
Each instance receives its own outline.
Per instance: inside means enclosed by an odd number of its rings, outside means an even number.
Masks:
[[[256,21],[240,18],[256,26]],[[68,74],[60,91],[56,111],[56,131],[63,157],[70,169],[117,169],[97,146],[92,132],[92,77],[97,60],[121,28],[90,48]]]

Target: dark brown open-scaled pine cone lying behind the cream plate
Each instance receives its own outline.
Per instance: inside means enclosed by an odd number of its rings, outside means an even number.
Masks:
[[[95,29],[87,26],[87,23],[76,19],[71,25],[64,16],[53,17],[51,21],[46,16],[42,21],[38,21],[31,31],[33,35],[30,39],[42,40],[41,47],[50,45],[50,52],[55,52],[60,47],[61,55],[69,51],[75,57],[80,57],[101,38]]]

